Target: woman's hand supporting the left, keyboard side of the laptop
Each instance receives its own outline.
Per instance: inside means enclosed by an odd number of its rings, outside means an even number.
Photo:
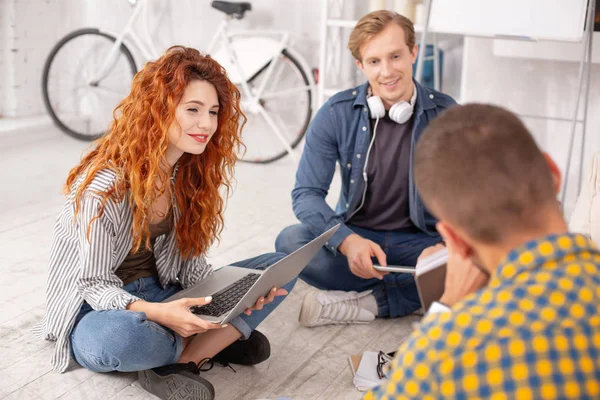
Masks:
[[[211,301],[212,297],[184,298],[169,303],[149,303],[139,300],[130,303],[127,309],[144,312],[150,321],[166,326],[182,337],[189,337],[210,329],[227,326],[203,320],[190,311],[190,307],[203,306]]]

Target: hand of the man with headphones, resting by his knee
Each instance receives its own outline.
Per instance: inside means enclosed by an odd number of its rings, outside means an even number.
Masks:
[[[360,278],[383,279],[383,276],[388,274],[373,268],[371,257],[377,257],[380,265],[386,265],[385,253],[375,242],[353,233],[340,243],[338,250],[348,258],[350,271]]]

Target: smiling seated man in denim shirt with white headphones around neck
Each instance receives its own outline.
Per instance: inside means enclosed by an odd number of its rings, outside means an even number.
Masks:
[[[331,97],[312,121],[292,192],[301,224],[285,228],[275,244],[289,254],[341,224],[300,275],[327,290],[303,299],[305,326],[414,312],[420,303],[412,275],[379,272],[373,258],[414,266],[423,249],[440,242],[413,183],[412,154],[425,126],[455,102],[413,80],[417,46],[407,18],[367,14],[348,47],[368,82]],[[342,189],[333,211],[325,197],[336,163]]]

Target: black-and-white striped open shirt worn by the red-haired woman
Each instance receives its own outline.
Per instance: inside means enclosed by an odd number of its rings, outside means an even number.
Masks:
[[[115,275],[132,248],[133,214],[129,202],[125,198],[118,203],[107,201],[104,213],[91,225],[89,241],[86,236],[90,221],[102,206],[100,193],[113,187],[116,179],[117,175],[109,169],[99,171],[86,188],[75,219],[75,190],[72,190],[54,226],[46,314],[33,332],[39,338],[57,342],[52,356],[52,369],[57,372],[64,372],[71,361],[69,336],[84,301],[95,310],[124,310],[129,303],[139,300],[123,290],[123,282]],[[174,203],[176,226],[181,212]],[[186,288],[212,273],[212,267],[202,256],[181,258],[175,229],[156,238],[153,250],[163,287],[179,282]]]

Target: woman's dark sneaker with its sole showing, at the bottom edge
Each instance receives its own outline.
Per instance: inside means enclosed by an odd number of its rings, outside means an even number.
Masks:
[[[191,375],[191,374],[190,374]],[[163,400],[213,400],[215,389],[199,376],[183,374],[160,376],[152,370],[138,372],[142,387]]]

